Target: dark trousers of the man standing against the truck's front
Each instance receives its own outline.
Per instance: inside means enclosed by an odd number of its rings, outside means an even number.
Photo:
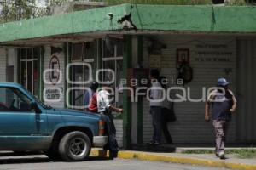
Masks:
[[[116,141],[116,128],[113,123],[113,115],[101,113],[102,120],[105,122],[105,130],[108,134],[108,144],[104,147],[105,150],[116,151],[118,150],[118,143]]]

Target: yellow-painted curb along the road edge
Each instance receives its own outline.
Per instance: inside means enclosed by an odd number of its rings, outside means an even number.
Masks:
[[[90,151],[91,156],[108,156],[108,153],[104,150],[92,149]],[[233,163],[227,161],[207,161],[197,158],[188,158],[182,156],[161,156],[157,154],[151,154],[147,152],[137,151],[119,151],[118,158],[121,159],[138,159],[143,161],[165,161],[180,164],[193,164],[207,167],[226,167],[230,169],[243,169],[243,170],[255,170],[256,165],[245,163]]]

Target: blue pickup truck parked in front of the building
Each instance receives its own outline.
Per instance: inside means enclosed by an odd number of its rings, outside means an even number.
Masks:
[[[13,82],[0,82],[0,150],[42,150],[52,159],[83,161],[108,143],[101,116],[44,105]]]

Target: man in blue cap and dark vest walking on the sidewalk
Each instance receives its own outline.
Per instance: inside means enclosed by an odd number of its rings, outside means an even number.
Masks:
[[[232,91],[228,88],[229,82],[224,78],[218,79],[218,89],[209,94],[205,121],[210,121],[210,105],[212,106],[212,122],[216,135],[216,156],[224,159],[224,144],[226,141],[229,122],[231,120],[231,113],[236,111],[236,98]]]

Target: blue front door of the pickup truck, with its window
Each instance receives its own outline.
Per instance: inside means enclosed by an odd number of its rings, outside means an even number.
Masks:
[[[37,150],[45,144],[46,115],[32,111],[18,88],[0,87],[0,150]]]

